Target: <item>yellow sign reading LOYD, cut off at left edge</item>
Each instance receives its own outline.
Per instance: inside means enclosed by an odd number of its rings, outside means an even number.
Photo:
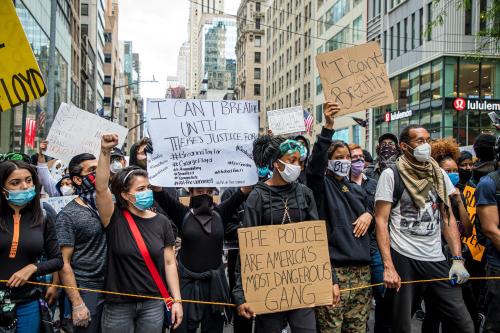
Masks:
[[[0,111],[45,95],[47,87],[12,1],[0,5]]]

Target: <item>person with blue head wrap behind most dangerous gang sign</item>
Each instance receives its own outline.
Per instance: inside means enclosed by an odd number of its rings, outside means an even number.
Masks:
[[[272,177],[257,183],[250,193],[243,215],[243,225],[254,227],[312,221],[318,219],[312,191],[297,182],[301,172],[301,155],[304,146],[295,140],[279,136],[264,136],[254,142],[254,156],[260,155]],[[238,305],[238,314],[247,319],[254,316],[249,304],[245,303],[240,267],[236,272],[236,287],[233,296]],[[314,309],[263,314],[256,317],[255,332],[281,332],[288,323],[292,333],[316,332]]]

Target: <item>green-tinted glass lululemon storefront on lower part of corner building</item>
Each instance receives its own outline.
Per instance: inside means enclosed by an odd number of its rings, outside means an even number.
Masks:
[[[390,81],[395,103],[374,108],[374,145],[381,134],[399,135],[409,124],[422,125],[432,138],[452,136],[461,146],[492,130],[488,113],[500,104],[500,59],[441,57]],[[456,98],[487,102],[493,108],[456,110]]]

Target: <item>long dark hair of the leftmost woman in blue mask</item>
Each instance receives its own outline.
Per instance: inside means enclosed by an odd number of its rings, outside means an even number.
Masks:
[[[33,179],[33,185],[35,186],[36,195],[27,205],[25,209],[29,209],[34,216],[33,226],[43,224],[43,210],[42,204],[40,203],[40,191],[41,186],[38,181],[38,176],[36,170],[30,164],[23,161],[4,161],[0,163],[0,186],[5,188],[5,184],[10,175],[19,169],[28,170]],[[6,230],[6,219],[7,215],[11,211],[7,198],[2,194],[0,195],[0,230]]]

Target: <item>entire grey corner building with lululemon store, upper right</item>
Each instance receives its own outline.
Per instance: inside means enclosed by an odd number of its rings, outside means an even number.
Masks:
[[[467,146],[492,130],[487,114],[500,110],[500,46],[477,37],[495,24],[484,15],[488,3],[467,9],[453,1],[368,1],[368,39],[380,40],[395,98],[374,108],[374,139],[420,124],[432,138],[452,136]],[[443,23],[429,30],[443,11]],[[479,61],[467,56],[483,44]]]

